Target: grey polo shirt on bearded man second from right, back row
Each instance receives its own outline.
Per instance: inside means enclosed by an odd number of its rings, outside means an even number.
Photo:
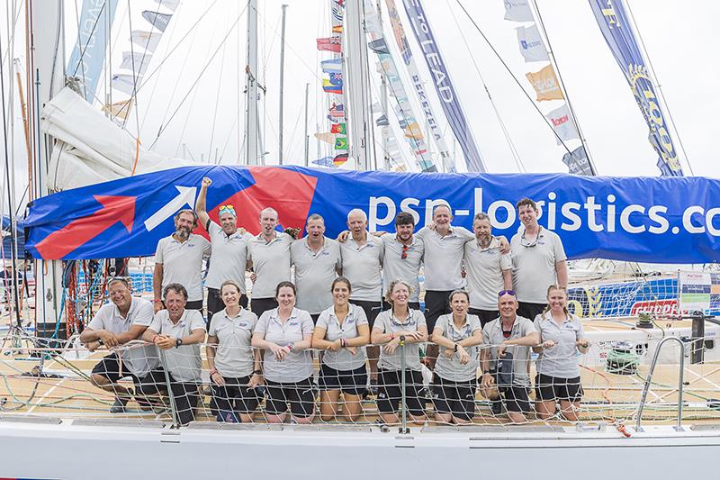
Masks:
[[[500,240],[493,237],[487,249],[477,239],[465,243],[465,270],[470,306],[480,310],[498,310],[498,292],[505,286],[502,271],[512,269],[509,253],[500,253]]]

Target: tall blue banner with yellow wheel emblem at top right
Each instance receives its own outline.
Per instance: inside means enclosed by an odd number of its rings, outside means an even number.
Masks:
[[[635,41],[635,33],[628,21],[623,0],[590,0],[592,13],[598,21],[608,47],[613,52],[635,100],[650,128],[648,140],[657,152],[658,168],[663,177],[682,177],[682,168],[672,143],[668,123],[655,95],[643,54]]]

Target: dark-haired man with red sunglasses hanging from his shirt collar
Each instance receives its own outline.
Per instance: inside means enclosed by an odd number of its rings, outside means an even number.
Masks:
[[[411,213],[401,212],[395,217],[395,234],[383,235],[385,252],[383,255],[383,293],[393,280],[405,280],[412,287],[410,303],[413,310],[420,309],[420,282],[418,275],[425,253],[425,244],[413,235],[415,218]],[[389,310],[391,304],[383,299],[383,310]]]

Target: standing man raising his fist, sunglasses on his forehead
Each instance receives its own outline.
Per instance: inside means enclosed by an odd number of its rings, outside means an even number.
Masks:
[[[220,298],[220,285],[226,280],[232,280],[240,285],[240,305],[247,308],[247,294],[245,290],[245,267],[247,265],[247,243],[243,234],[238,231],[238,214],[233,205],[220,205],[218,217],[220,225],[213,222],[205,208],[208,187],[212,180],[202,178],[200,194],[197,196],[195,212],[200,223],[210,235],[212,253],[208,276],[205,286],[208,289],[208,315],[207,324],[210,326],[212,315],[225,308]]]

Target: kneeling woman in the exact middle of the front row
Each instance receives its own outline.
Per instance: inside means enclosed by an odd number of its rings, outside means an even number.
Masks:
[[[370,327],[363,308],[348,302],[352,286],[346,277],[333,280],[330,292],[333,306],[320,313],[312,333],[312,348],[326,350],[318,378],[320,418],[332,421],[336,417],[342,393],[343,416],[356,421],[363,412],[365,345],[370,342]]]

